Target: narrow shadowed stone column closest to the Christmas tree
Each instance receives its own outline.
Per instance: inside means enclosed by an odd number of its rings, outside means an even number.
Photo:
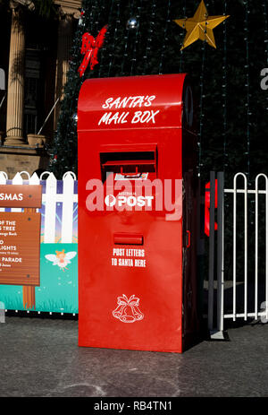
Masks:
[[[61,96],[63,94],[64,84],[67,81],[72,43],[72,19],[72,14],[69,13],[62,13],[59,19],[54,100],[59,97],[63,99]],[[54,129],[56,129],[59,112],[60,102],[57,103],[54,109]]]

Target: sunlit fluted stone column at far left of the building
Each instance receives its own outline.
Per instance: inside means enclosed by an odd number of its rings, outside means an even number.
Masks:
[[[7,87],[6,138],[4,145],[25,144],[23,140],[25,33],[21,7],[13,10]]]

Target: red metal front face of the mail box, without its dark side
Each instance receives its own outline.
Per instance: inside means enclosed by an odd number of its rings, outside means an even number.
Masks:
[[[185,74],[92,79],[81,88],[78,110],[80,346],[182,351],[184,81]],[[143,99],[128,101],[125,97]],[[104,108],[112,103],[112,108]],[[115,108],[116,105],[121,108]],[[138,117],[137,111],[148,110],[155,111],[148,122],[131,123]],[[107,112],[111,112],[105,118],[107,122],[100,122]],[[129,114],[121,116],[122,112]],[[139,116],[141,121],[142,117]],[[118,162],[102,159],[109,151],[112,155],[121,153]],[[150,151],[153,155],[147,160]],[[145,160],[142,160],[143,152]],[[179,215],[171,219],[166,209],[156,211],[155,204],[148,211],[141,207],[138,211],[122,212],[105,209],[104,204],[104,210],[89,212],[88,195],[93,191],[90,180],[105,181],[104,169],[122,171],[116,170],[120,166],[129,167],[134,177],[138,166],[138,171],[150,171],[148,178],[152,180],[169,179],[172,183],[179,180]],[[128,176],[132,182],[134,177]],[[105,183],[105,190],[106,186]],[[154,192],[156,197],[159,189],[155,187]]]

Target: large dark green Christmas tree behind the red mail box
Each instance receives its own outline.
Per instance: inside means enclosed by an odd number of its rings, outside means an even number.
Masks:
[[[77,102],[87,78],[158,73],[189,73],[197,99],[199,171],[226,177],[266,172],[267,91],[261,72],[268,66],[267,0],[211,0],[208,15],[230,15],[214,29],[217,48],[197,40],[183,48],[186,30],[174,20],[194,16],[199,0],[84,0],[64,89],[50,169],[62,177],[77,173]],[[82,35],[96,38],[108,25],[98,64],[79,67]],[[227,178],[226,178],[227,179]]]

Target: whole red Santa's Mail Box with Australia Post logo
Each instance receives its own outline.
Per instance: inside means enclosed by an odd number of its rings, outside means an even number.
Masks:
[[[82,84],[80,346],[182,352],[197,339],[194,116],[185,73]]]

